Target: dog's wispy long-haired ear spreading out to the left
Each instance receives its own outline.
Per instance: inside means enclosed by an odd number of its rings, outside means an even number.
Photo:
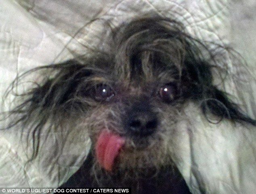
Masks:
[[[41,83],[34,83],[34,87],[27,89],[25,93],[15,93],[16,88],[21,84],[20,80],[23,80],[26,75],[40,71],[42,71],[41,73],[47,71],[51,77]],[[15,95],[14,103],[17,104],[8,111],[9,116],[13,116],[13,119],[7,128],[18,123],[29,123],[34,115],[40,115],[43,120],[47,120],[61,109],[64,111],[68,107],[69,100],[76,95],[79,83],[90,74],[91,71],[76,60],[42,66],[22,74],[16,78],[9,91],[6,92],[6,98],[8,95]]]

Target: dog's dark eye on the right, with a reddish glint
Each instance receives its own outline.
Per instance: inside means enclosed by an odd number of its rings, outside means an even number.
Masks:
[[[159,97],[165,102],[172,102],[177,95],[177,86],[174,83],[164,85],[159,90]]]

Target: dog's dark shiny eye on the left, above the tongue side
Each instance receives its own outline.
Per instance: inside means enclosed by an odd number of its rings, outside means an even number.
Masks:
[[[115,95],[113,89],[109,85],[101,84],[95,88],[94,97],[99,101],[109,101]]]

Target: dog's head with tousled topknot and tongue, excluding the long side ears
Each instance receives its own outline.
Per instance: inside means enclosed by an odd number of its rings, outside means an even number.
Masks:
[[[173,130],[186,119],[186,103],[204,95],[201,88],[210,89],[211,66],[172,21],[134,21],[113,39],[110,54],[85,65],[68,62],[79,67],[58,76],[75,86],[65,96],[84,109],[80,123],[100,167],[141,174],[170,166]]]

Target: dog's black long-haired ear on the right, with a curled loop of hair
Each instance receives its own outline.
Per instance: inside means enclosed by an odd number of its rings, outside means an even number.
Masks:
[[[232,101],[231,95],[213,84],[212,70],[217,67],[210,64],[208,59],[189,52],[186,55],[184,66],[181,77],[184,85],[183,94],[185,97],[199,101],[206,117],[210,113],[220,118],[256,125],[256,120],[247,116],[239,105]]]

